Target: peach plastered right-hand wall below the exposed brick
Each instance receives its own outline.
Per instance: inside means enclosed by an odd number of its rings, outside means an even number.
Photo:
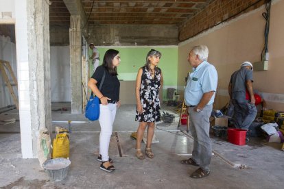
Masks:
[[[254,71],[254,86],[268,101],[268,108],[284,110],[284,36],[283,18],[284,1],[272,1],[270,13],[270,34],[268,51],[270,60],[268,71]],[[204,44],[209,47],[209,62],[215,65],[219,76],[219,84],[215,108],[228,102],[228,82],[230,75],[239,69],[246,60],[258,62],[264,42],[265,20],[261,15],[264,6],[243,14],[228,23],[223,23],[185,42],[178,47],[178,88],[184,90],[185,77],[191,71],[187,62],[189,50],[194,45]],[[196,27],[196,25],[191,25]]]

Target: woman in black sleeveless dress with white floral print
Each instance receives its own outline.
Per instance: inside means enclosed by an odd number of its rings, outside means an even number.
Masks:
[[[139,68],[136,79],[137,111],[135,121],[139,121],[137,129],[136,156],[143,160],[141,152],[141,141],[147,127],[147,144],[145,154],[149,158],[154,157],[151,144],[154,136],[155,122],[161,121],[159,89],[163,85],[163,75],[157,67],[160,62],[161,53],[152,49],[147,53],[146,63]]]

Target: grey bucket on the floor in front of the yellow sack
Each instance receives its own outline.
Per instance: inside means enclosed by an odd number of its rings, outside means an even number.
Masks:
[[[47,173],[51,180],[62,181],[67,177],[70,164],[69,159],[55,158],[46,160],[43,164],[43,168],[45,168],[45,173]]]

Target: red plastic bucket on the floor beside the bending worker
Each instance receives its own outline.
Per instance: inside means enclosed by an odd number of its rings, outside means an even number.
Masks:
[[[246,145],[246,130],[244,129],[227,129],[228,142],[243,146]]]

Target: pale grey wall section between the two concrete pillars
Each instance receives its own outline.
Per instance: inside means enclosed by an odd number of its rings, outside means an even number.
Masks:
[[[50,47],[51,102],[71,101],[69,46]]]

